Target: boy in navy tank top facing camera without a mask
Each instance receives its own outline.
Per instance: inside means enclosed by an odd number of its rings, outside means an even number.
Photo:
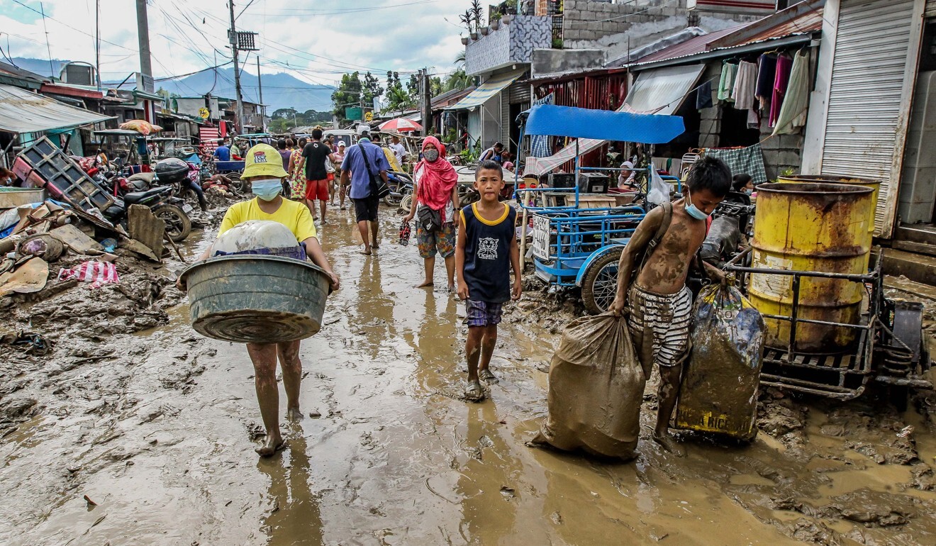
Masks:
[[[497,198],[504,189],[504,170],[496,161],[483,161],[475,170],[475,190],[481,200],[461,209],[461,229],[455,246],[459,297],[468,306],[468,386],[465,398],[484,400],[480,379],[492,383],[490,356],[497,344],[502,305],[519,300],[520,253],[514,225],[517,211]],[[513,287],[510,269],[514,270]]]

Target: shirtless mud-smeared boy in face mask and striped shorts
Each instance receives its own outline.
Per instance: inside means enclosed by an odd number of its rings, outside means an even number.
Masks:
[[[682,362],[689,352],[692,293],[686,276],[695,253],[706,236],[709,214],[731,189],[731,171],[720,159],[703,157],[686,180],[686,196],[672,204],[669,227],[655,248],[651,241],[664,222],[664,207],[653,209],[624,248],[618,266],[618,291],[611,310],[628,317],[631,337],[644,374],[650,376],[653,362],[660,366],[659,410],[653,439],[677,456],[685,451],[669,435],[669,418],[679,395]],[[636,280],[631,272],[647,251]],[[706,265],[716,280],[724,276]],[[629,288],[629,289],[628,289]]]

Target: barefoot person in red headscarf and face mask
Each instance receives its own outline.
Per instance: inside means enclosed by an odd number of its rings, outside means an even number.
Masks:
[[[452,164],[446,160],[446,147],[435,137],[426,137],[422,141],[422,160],[413,168],[413,180],[416,184],[416,199],[409,214],[403,218],[407,224],[417,214],[417,209],[429,207],[439,214],[442,225],[431,230],[417,222],[416,239],[419,256],[426,268],[426,278],[417,288],[432,286],[432,273],[435,270],[435,255],[438,253],[446,260],[446,278],[448,291],[455,288],[455,229],[459,227],[459,175]]]

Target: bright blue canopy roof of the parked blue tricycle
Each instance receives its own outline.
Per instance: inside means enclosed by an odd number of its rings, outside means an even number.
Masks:
[[[685,130],[676,115],[589,110],[541,104],[529,110],[525,133],[574,139],[665,144]]]

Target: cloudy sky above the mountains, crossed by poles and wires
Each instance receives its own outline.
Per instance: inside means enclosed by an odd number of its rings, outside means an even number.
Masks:
[[[134,0],[99,0],[101,74],[139,70]],[[148,0],[156,78],[230,60],[226,0]],[[95,62],[95,0],[3,0],[0,49],[10,57]],[[264,72],[334,84],[341,74],[452,70],[469,0],[235,0],[238,30],[260,33]],[[487,4],[487,3],[485,3]],[[246,9],[244,9],[246,7]],[[38,11],[45,10],[43,22]],[[243,12],[241,13],[241,10]],[[447,20],[447,21],[446,21]],[[49,46],[46,45],[48,36]],[[217,59],[217,61],[215,61]],[[256,63],[252,53],[248,59]],[[243,53],[241,53],[241,62]]]

